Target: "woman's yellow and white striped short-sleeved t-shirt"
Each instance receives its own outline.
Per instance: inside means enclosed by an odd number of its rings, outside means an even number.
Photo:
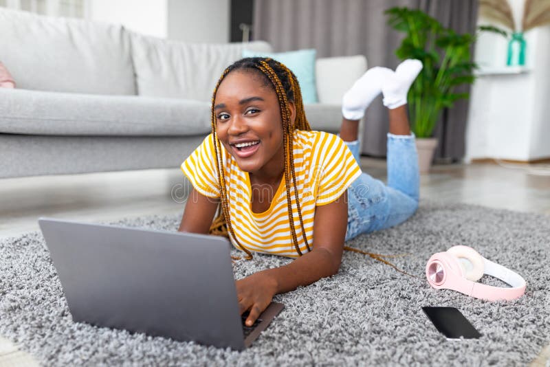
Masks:
[[[254,213],[250,201],[252,189],[248,172],[237,166],[223,145],[221,150],[225,186],[230,198],[231,224],[241,245],[255,252],[298,257],[292,242],[285,177],[274,194],[270,208],[262,213]],[[322,131],[299,130],[294,132],[294,168],[307,242],[313,248],[316,205],[336,201],[353,180],[359,177],[361,169],[340,137]],[[220,197],[212,134],[181,164],[181,170],[195,190],[206,197]],[[292,177],[289,179],[296,236],[300,251],[304,254],[307,247],[303,241],[296,209]],[[233,238],[231,242],[239,248]]]

